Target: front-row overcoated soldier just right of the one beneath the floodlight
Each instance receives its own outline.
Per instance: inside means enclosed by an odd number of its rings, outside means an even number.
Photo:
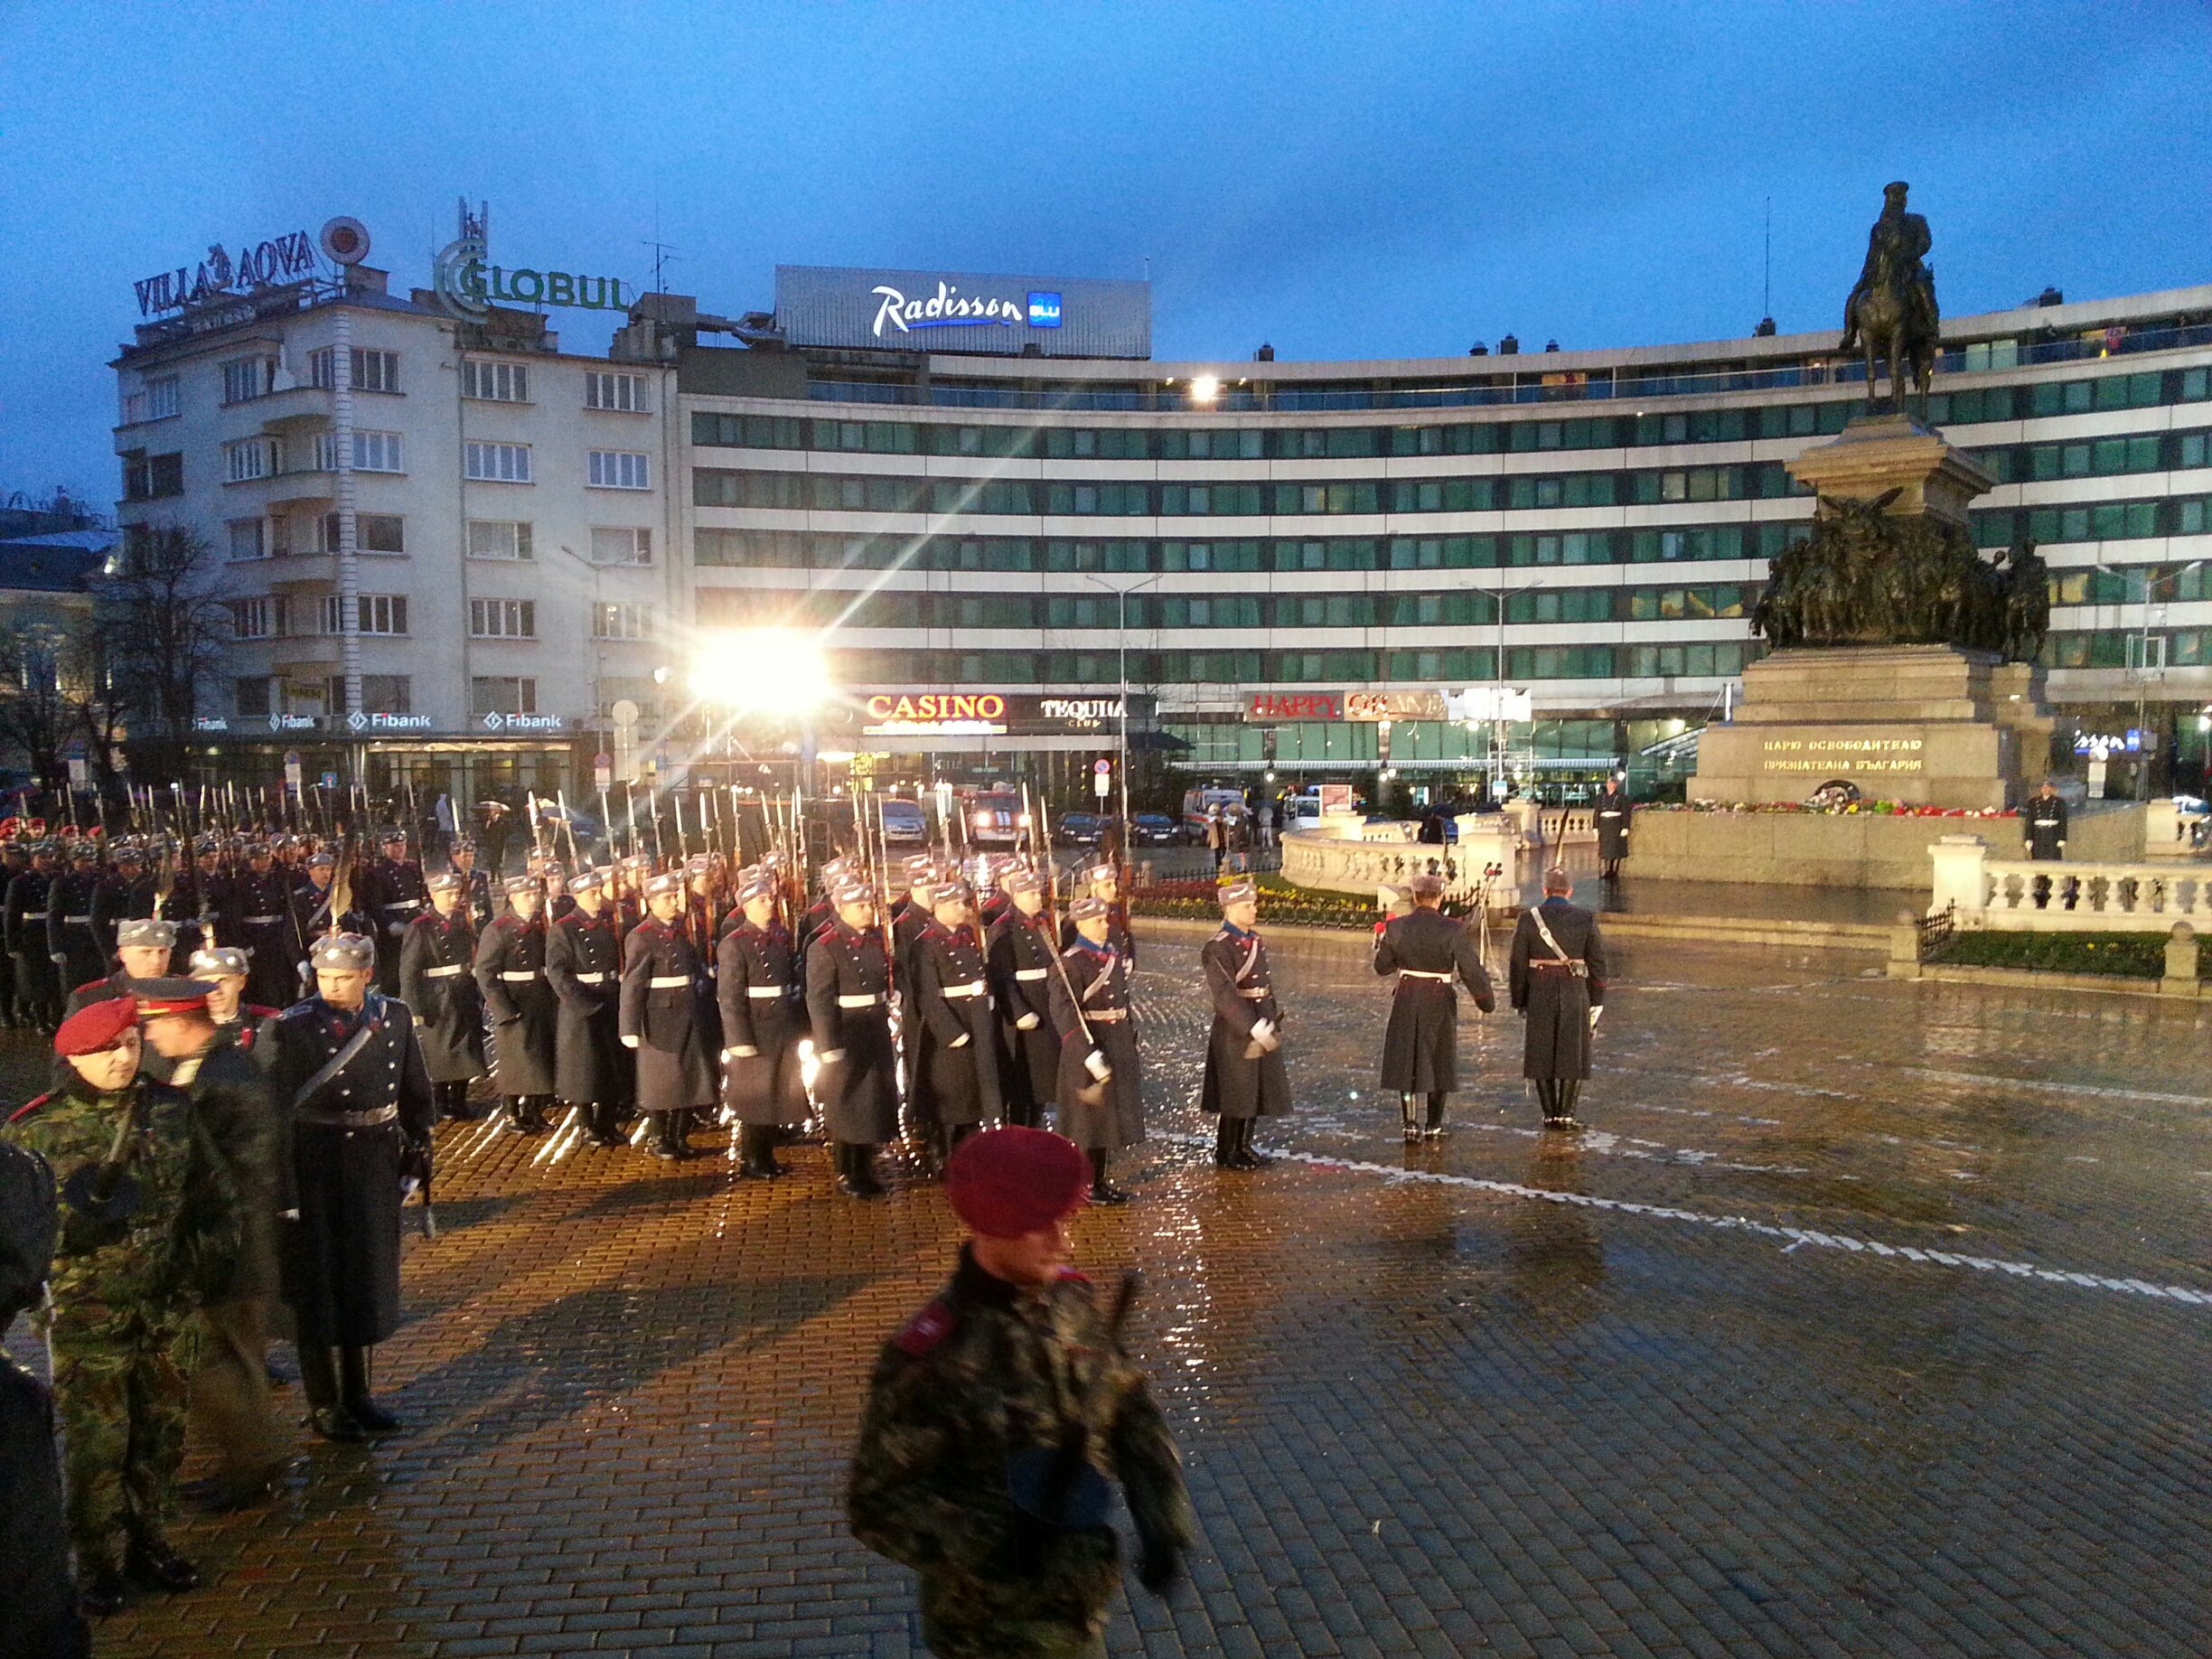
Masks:
[[[814,1097],[836,1161],[838,1190],[878,1199],[876,1148],[898,1139],[898,1048],[891,1042],[891,964],[876,929],[876,889],[843,876],[836,918],[807,947],[807,1022]]]

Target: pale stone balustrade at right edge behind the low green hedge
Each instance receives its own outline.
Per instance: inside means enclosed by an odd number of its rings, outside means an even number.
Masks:
[[[1993,858],[1980,836],[1944,836],[1929,860],[1929,914],[1964,929],[2163,933],[2212,916],[2212,869],[2190,865]]]

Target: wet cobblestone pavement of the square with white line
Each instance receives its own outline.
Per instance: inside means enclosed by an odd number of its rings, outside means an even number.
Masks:
[[[1201,931],[1144,938],[1159,1137],[1077,1254],[1148,1272],[1203,1535],[1113,1652],[2212,1650],[2212,1015],[1624,942],[1588,1135],[1469,1011],[1458,1130],[1402,1148],[1365,940],[1285,936],[1292,1157],[1223,1175]],[[380,1349],[411,1431],[181,1524],[210,1588],[100,1652],[918,1652],[843,1458],[956,1230],[792,1157],[445,1130]]]

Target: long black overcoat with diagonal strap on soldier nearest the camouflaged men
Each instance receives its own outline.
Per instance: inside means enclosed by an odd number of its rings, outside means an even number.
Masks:
[[[361,1051],[303,1093],[363,1020]],[[307,998],[270,1024],[268,1044],[285,1305],[303,1343],[380,1343],[400,1325],[400,1159],[438,1119],[414,1013],[374,991],[352,1013]]]

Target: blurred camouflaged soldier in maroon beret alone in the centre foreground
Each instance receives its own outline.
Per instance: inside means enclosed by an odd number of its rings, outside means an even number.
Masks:
[[[940,1659],[1104,1659],[1119,1584],[1113,1489],[1137,1582],[1166,1597],[1197,1522],[1175,1438],[1110,1312],[1068,1265],[1082,1152],[1040,1128],[962,1141],[945,1197],[969,1230],[953,1276],[883,1347],[854,1447],[854,1537],[920,1575]]]

